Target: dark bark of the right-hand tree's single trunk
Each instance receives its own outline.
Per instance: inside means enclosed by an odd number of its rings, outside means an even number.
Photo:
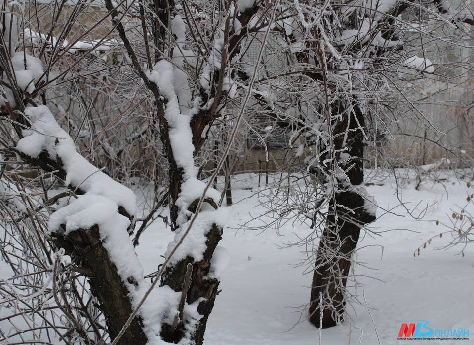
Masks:
[[[341,113],[340,106],[341,104],[333,111]],[[334,127],[336,129],[334,145],[336,150],[342,148],[344,145],[342,134],[349,129],[346,146],[347,153],[353,158],[348,165],[354,164],[354,166],[346,173],[351,185],[357,186],[364,181],[362,159],[365,144],[361,131],[364,116],[358,107],[354,109],[355,114],[344,115],[345,119]],[[317,251],[311,288],[310,321],[316,327],[332,327],[341,320],[346,304],[347,276],[351,267],[351,257],[359,240],[360,229],[374,220],[375,216],[368,214],[364,209],[364,198],[350,188],[346,187],[345,190],[337,192],[335,198],[330,201],[326,226]]]

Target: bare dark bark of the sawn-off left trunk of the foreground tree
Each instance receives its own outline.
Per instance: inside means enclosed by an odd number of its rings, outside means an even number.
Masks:
[[[117,267],[110,260],[109,253],[100,240],[99,228],[52,234],[54,243],[70,255],[75,266],[83,269],[89,278],[94,296],[106,318],[110,338],[113,340],[133,311],[128,297],[128,289],[117,273]],[[133,284],[134,277],[128,281]],[[130,327],[118,341],[120,345],[145,345],[147,337],[143,333],[143,324],[139,316],[133,319]]]

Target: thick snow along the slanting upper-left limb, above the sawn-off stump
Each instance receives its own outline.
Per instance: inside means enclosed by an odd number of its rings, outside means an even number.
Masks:
[[[16,147],[19,151],[32,158],[38,158],[41,152],[46,151],[51,159],[61,160],[67,185],[80,188],[87,194],[111,198],[128,214],[135,214],[135,193],[82,157],[73,139],[58,125],[46,106],[29,106],[25,109],[25,115],[31,122],[31,130],[23,130],[24,138]]]

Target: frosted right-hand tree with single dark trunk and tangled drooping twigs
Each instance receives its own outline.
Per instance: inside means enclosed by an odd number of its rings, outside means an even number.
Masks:
[[[446,69],[453,63],[427,55],[443,43],[469,56],[471,47],[454,33],[469,36],[466,24],[473,24],[473,15],[467,4],[449,1],[281,1],[276,18],[271,24],[276,48],[264,61],[254,106],[274,119],[275,128],[288,128],[290,146],[301,140],[295,151],[306,157],[299,173],[308,187],[302,195],[285,177],[285,188],[277,192],[288,191],[291,198],[272,195],[268,207],[276,213],[276,226],[281,217],[310,220],[314,233],[295,244],[309,246],[307,262],[314,265],[310,320],[331,327],[345,313],[360,231],[376,219],[376,202],[364,186],[364,161],[388,161],[377,153],[378,142],[400,134],[416,137],[411,127],[441,133],[423,106],[436,89],[422,89],[421,96],[417,90],[422,82],[445,87],[466,80],[466,58],[458,63],[464,69],[459,76]],[[270,66],[275,59],[283,61],[279,68]],[[452,156],[461,153],[438,145]],[[390,163],[396,162],[405,164]],[[318,248],[312,250],[315,240]]]

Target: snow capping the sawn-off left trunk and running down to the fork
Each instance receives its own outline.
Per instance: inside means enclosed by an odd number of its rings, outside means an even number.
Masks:
[[[86,194],[51,215],[48,228],[51,234],[62,232],[67,236],[73,231],[90,229],[97,225],[100,240],[110,260],[117,267],[117,273],[128,290],[133,308],[137,308],[150,283],[143,276],[143,268],[130,242],[127,228],[130,220],[117,212],[117,203],[111,198]],[[161,322],[172,323],[170,315],[178,312],[180,294],[168,286],[155,287],[147,297],[147,303],[140,309],[144,332],[148,344],[168,344],[161,340]]]

